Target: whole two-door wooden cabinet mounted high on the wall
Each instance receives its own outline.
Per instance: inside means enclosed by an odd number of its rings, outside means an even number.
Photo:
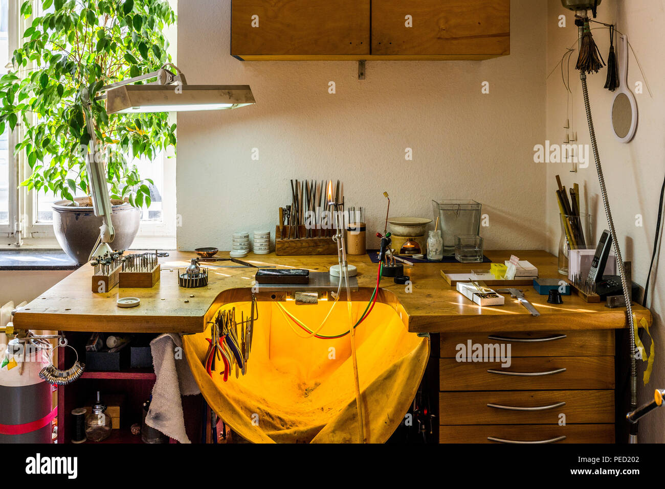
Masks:
[[[510,0],[233,0],[241,60],[480,60],[510,53]]]

